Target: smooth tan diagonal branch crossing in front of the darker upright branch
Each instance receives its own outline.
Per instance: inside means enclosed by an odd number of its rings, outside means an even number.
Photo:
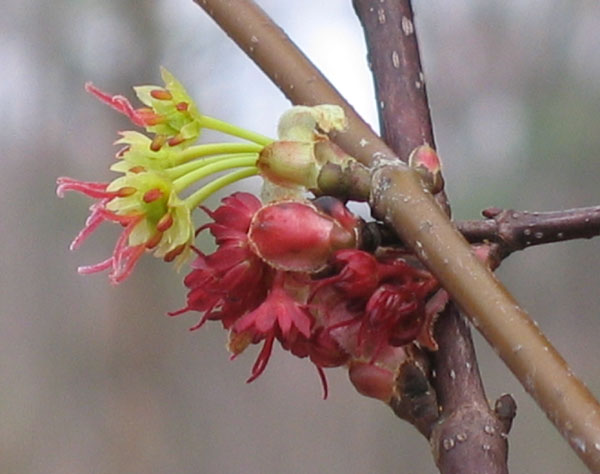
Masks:
[[[323,84],[321,75],[306,67],[306,58],[252,2],[197,0],[197,3],[261,67],[270,70],[273,81],[295,103],[346,104],[329,84]],[[261,44],[260,54],[254,54],[258,44]],[[293,81],[293,89],[287,81]],[[374,165],[370,202],[375,215],[392,226],[415,251],[581,459],[590,469],[600,472],[600,450],[595,449],[600,446],[598,402],[527,313],[471,253],[467,241],[424,189],[418,175],[393,160],[377,159],[394,154],[360,122],[351,117],[349,131],[338,139],[346,142],[342,147],[348,153]],[[362,147],[365,141],[369,143]]]

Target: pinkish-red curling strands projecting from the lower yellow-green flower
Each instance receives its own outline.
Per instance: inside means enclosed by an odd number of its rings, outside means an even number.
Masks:
[[[66,177],[58,178],[57,184],[56,193],[60,197],[66,191],[77,191],[91,198],[98,199],[97,202],[90,206],[90,215],[85,222],[84,228],[71,242],[71,250],[78,248],[103,222],[116,222],[124,227],[109,258],[93,265],[81,266],[77,269],[78,272],[81,274],[90,274],[110,268],[109,278],[111,282],[116,284],[125,280],[131,274],[135,264],[146,250],[145,245],[130,246],[128,243],[129,235],[134,227],[143,219],[143,216],[120,216],[108,210],[106,206],[110,201],[126,195],[130,190],[107,191],[108,183],[93,183]]]

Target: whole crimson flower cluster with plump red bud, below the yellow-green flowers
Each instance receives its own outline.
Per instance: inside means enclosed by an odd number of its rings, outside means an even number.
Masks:
[[[266,368],[276,340],[315,364],[325,394],[323,368],[358,364],[367,379],[382,370],[388,377],[388,362],[397,363],[403,346],[418,341],[435,348],[430,331],[436,311],[428,310],[427,300],[437,281],[397,252],[356,249],[360,222],[340,201],[262,205],[235,193],[205,211],[213,222],[199,231],[208,229],[218,249],[211,255],[196,250],[185,279],[187,305],[172,315],[202,313],[192,329],[221,321],[232,357],[263,343],[249,382]],[[351,378],[361,393],[390,394],[387,385],[373,390],[372,380],[360,386],[364,378]]]

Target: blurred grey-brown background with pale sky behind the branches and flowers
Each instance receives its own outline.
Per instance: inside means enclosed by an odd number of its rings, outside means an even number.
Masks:
[[[350,0],[259,3],[377,128]],[[160,84],[164,65],[207,114],[274,135],[289,104],[257,67],[191,0],[3,5],[0,472],[437,472],[416,430],[341,369],[328,371],[327,401],[311,365],[280,350],[245,384],[256,351],[229,362],[218,325],[190,333],[195,315],[166,317],[185,291],[160,261],[144,258],[117,287],[76,272],[111,252],[117,229],[69,252],[90,201],[56,198],[56,178],[110,178],[111,143],[131,127],[84,82],[132,97],[133,85]],[[416,0],[415,10],[455,216],[600,204],[600,4]],[[499,270],[597,395],[599,268],[592,240],[529,249]],[[512,470],[586,472],[476,338],[488,396],[518,403]]]

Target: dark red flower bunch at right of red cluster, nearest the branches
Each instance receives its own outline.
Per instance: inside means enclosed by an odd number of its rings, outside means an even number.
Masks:
[[[398,256],[376,258],[360,250],[332,257],[337,275],[317,282],[311,301],[322,325],[353,356],[376,360],[387,346],[421,334],[427,297],[438,287],[426,271]]]

